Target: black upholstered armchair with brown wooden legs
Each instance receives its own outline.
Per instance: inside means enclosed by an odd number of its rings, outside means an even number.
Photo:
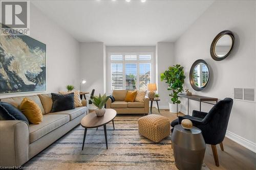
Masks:
[[[222,141],[225,138],[232,105],[233,100],[230,98],[225,98],[212,107],[209,113],[193,110],[192,116],[179,116],[177,119],[173,120],[170,125],[174,127],[177,124],[181,124],[183,119],[191,120],[193,126],[202,131],[205,143],[211,145],[215,164],[216,166],[219,166],[216,145],[220,144],[221,150],[224,151]]]

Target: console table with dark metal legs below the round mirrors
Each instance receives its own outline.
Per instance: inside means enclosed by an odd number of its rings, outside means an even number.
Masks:
[[[209,103],[209,102],[216,102],[216,103],[218,102],[217,98],[210,98],[210,97],[194,95],[194,94],[192,94],[192,95],[178,94],[178,97],[187,99],[187,114],[189,113],[189,100],[199,101],[200,111],[201,111],[201,103],[215,105],[214,103]],[[178,104],[177,104],[177,107],[178,107]]]

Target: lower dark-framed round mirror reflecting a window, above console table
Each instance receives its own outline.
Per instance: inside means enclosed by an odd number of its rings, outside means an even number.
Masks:
[[[203,90],[210,80],[210,68],[204,60],[197,60],[189,71],[189,81],[194,90]]]

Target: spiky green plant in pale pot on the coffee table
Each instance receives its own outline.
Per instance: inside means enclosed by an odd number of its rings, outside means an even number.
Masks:
[[[105,114],[105,103],[109,100],[109,96],[106,96],[106,94],[103,94],[102,96],[99,94],[99,96],[93,96],[90,101],[97,107],[95,110],[95,113],[98,117],[103,116]]]

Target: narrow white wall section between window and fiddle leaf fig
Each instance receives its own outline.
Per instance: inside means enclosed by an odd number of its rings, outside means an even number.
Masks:
[[[159,107],[162,109],[167,109],[168,102],[170,101],[170,91],[167,90],[168,84],[165,81],[160,81],[160,74],[168,69],[169,66],[173,66],[174,63],[174,43],[173,42],[158,42],[157,43],[157,54],[156,54],[156,80],[158,94],[160,95],[161,101],[159,102]]]

